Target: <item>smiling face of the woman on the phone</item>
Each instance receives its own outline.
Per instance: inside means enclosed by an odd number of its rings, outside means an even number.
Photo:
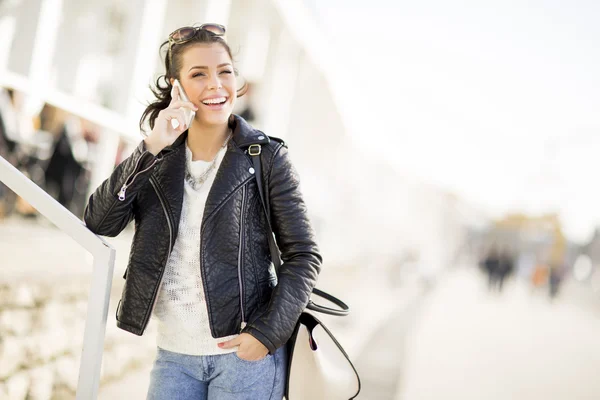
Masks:
[[[197,44],[183,53],[179,82],[198,107],[196,121],[202,125],[228,122],[236,100],[237,81],[227,50],[218,43]]]

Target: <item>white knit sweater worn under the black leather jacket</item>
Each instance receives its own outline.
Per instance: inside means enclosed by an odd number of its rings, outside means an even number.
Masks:
[[[157,345],[175,353],[213,355],[237,350],[222,350],[217,346],[236,335],[219,339],[211,336],[200,274],[200,225],[208,192],[225,151],[225,148],[219,151],[215,168],[198,190],[184,180],[179,232],[167,261],[154,309],[154,316],[158,320]],[[201,176],[211,164],[207,161],[192,161],[192,152],[187,145],[186,158],[187,168],[193,177]]]

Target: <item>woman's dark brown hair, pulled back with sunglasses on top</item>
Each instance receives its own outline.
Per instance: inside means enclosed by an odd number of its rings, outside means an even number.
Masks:
[[[171,103],[171,89],[173,88],[173,85],[171,85],[171,78],[174,79],[179,79],[179,71],[181,70],[182,67],[182,61],[183,61],[183,53],[185,52],[185,50],[191,46],[194,46],[196,44],[212,44],[212,43],[218,43],[221,46],[223,46],[223,48],[225,49],[225,51],[227,51],[227,54],[229,54],[229,57],[231,58],[231,60],[233,61],[233,56],[231,54],[231,48],[229,47],[229,45],[227,44],[227,42],[223,39],[223,37],[221,36],[217,36],[214,33],[207,31],[205,29],[198,29],[196,30],[196,34],[194,35],[194,37],[192,37],[190,40],[188,40],[185,43],[181,43],[181,44],[176,44],[174,43],[171,46],[171,57],[169,57],[169,41],[165,41],[161,46],[160,46],[160,50],[159,52],[162,52],[163,49],[165,47],[167,47],[167,51],[165,52],[165,74],[161,75],[158,77],[158,79],[156,80],[156,88],[153,88],[152,86],[150,86],[150,90],[152,91],[152,93],[154,94],[154,96],[156,97],[156,101],[148,104],[148,106],[146,107],[146,110],[144,110],[142,117],[140,118],[140,131],[144,131],[144,121],[146,119],[148,119],[148,123],[150,125],[150,129],[154,129],[154,121],[156,120],[156,118],[158,117],[158,113],[161,112],[162,110],[164,110],[165,108],[167,108],[169,106],[169,103]],[[171,65],[172,62],[172,65]],[[234,71],[237,75],[237,70],[234,68]],[[244,93],[246,93],[247,91],[247,85],[244,84],[244,86],[241,89],[238,89],[237,91],[237,96],[241,97],[244,95]]]

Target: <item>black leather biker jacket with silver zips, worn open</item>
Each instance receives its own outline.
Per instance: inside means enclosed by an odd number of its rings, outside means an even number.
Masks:
[[[214,338],[247,332],[270,353],[288,340],[304,310],[321,266],[298,175],[285,144],[232,118],[233,137],[208,195],[201,228],[200,273]],[[142,335],[161,285],[183,204],[185,138],[156,157],[144,142],[90,197],[84,219],[103,236],[116,236],[132,220],[126,283],[117,326]],[[263,181],[271,224],[281,250],[275,274],[251,156],[262,146]],[[242,322],[247,325],[243,327]]]

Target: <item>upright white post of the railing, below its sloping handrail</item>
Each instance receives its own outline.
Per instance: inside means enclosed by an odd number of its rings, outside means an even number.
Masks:
[[[81,352],[81,362],[79,364],[77,400],[89,400],[98,397],[114,266],[115,249],[107,247],[105,252],[94,256],[90,297],[83,335],[83,351]]]

